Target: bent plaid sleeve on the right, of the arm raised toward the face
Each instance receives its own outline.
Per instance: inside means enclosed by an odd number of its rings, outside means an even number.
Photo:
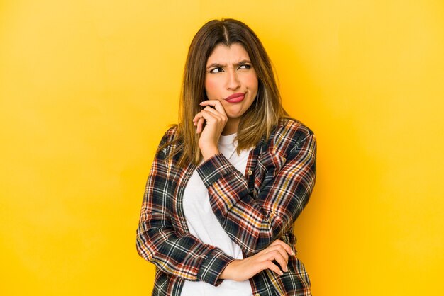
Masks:
[[[197,168],[219,223],[247,256],[282,237],[308,202],[316,181],[315,135],[304,137],[281,161],[280,170],[267,171],[256,198],[243,173],[222,154]]]

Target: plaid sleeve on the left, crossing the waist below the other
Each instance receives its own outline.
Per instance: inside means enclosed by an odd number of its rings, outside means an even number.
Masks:
[[[167,134],[159,147],[167,142]],[[165,273],[186,280],[201,280],[220,285],[218,279],[228,263],[234,260],[216,246],[202,243],[192,234],[179,234],[172,225],[167,205],[168,167],[165,149],[156,153],[143,196],[137,229],[138,254]]]

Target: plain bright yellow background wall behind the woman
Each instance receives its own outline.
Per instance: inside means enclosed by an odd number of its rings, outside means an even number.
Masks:
[[[296,222],[313,294],[444,295],[444,2],[0,2],[0,294],[149,295],[135,229],[184,59],[255,30],[316,133]]]

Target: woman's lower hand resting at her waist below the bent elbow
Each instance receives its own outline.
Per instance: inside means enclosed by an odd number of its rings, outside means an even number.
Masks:
[[[285,244],[284,241],[277,239],[273,241],[267,249],[263,249],[251,257],[229,263],[219,278],[243,281],[252,278],[265,269],[270,269],[282,275],[282,271],[288,271],[287,263],[289,255],[294,255],[292,248],[288,244]],[[281,268],[279,269],[279,266],[274,264],[273,261],[277,261]]]

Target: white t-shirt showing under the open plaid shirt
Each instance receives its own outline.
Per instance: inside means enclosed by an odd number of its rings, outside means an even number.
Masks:
[[[236,134],[226,135],[219,138],[219,152],[230,161],[233,166],[245,173],[248,156],[251,149],[236,152],[237,142],[233,143]],[[202,182],[197,171],[193,172],[192,177],[184,190],[184,214],[187,219],[189,232],[200,239],[204,244],[211,244],[222,249],[228,256],[236,259],[243,259],[242,250],[231,241],[228,234],[219,224],[216,216],[211,210],[208,190]],[[250,281],[236,282],[235,280],[223,280],[221,285],[214,287],[205,282],[192,282],[185,280],[182,288],[182,296],[251,296],[252,290]]]

